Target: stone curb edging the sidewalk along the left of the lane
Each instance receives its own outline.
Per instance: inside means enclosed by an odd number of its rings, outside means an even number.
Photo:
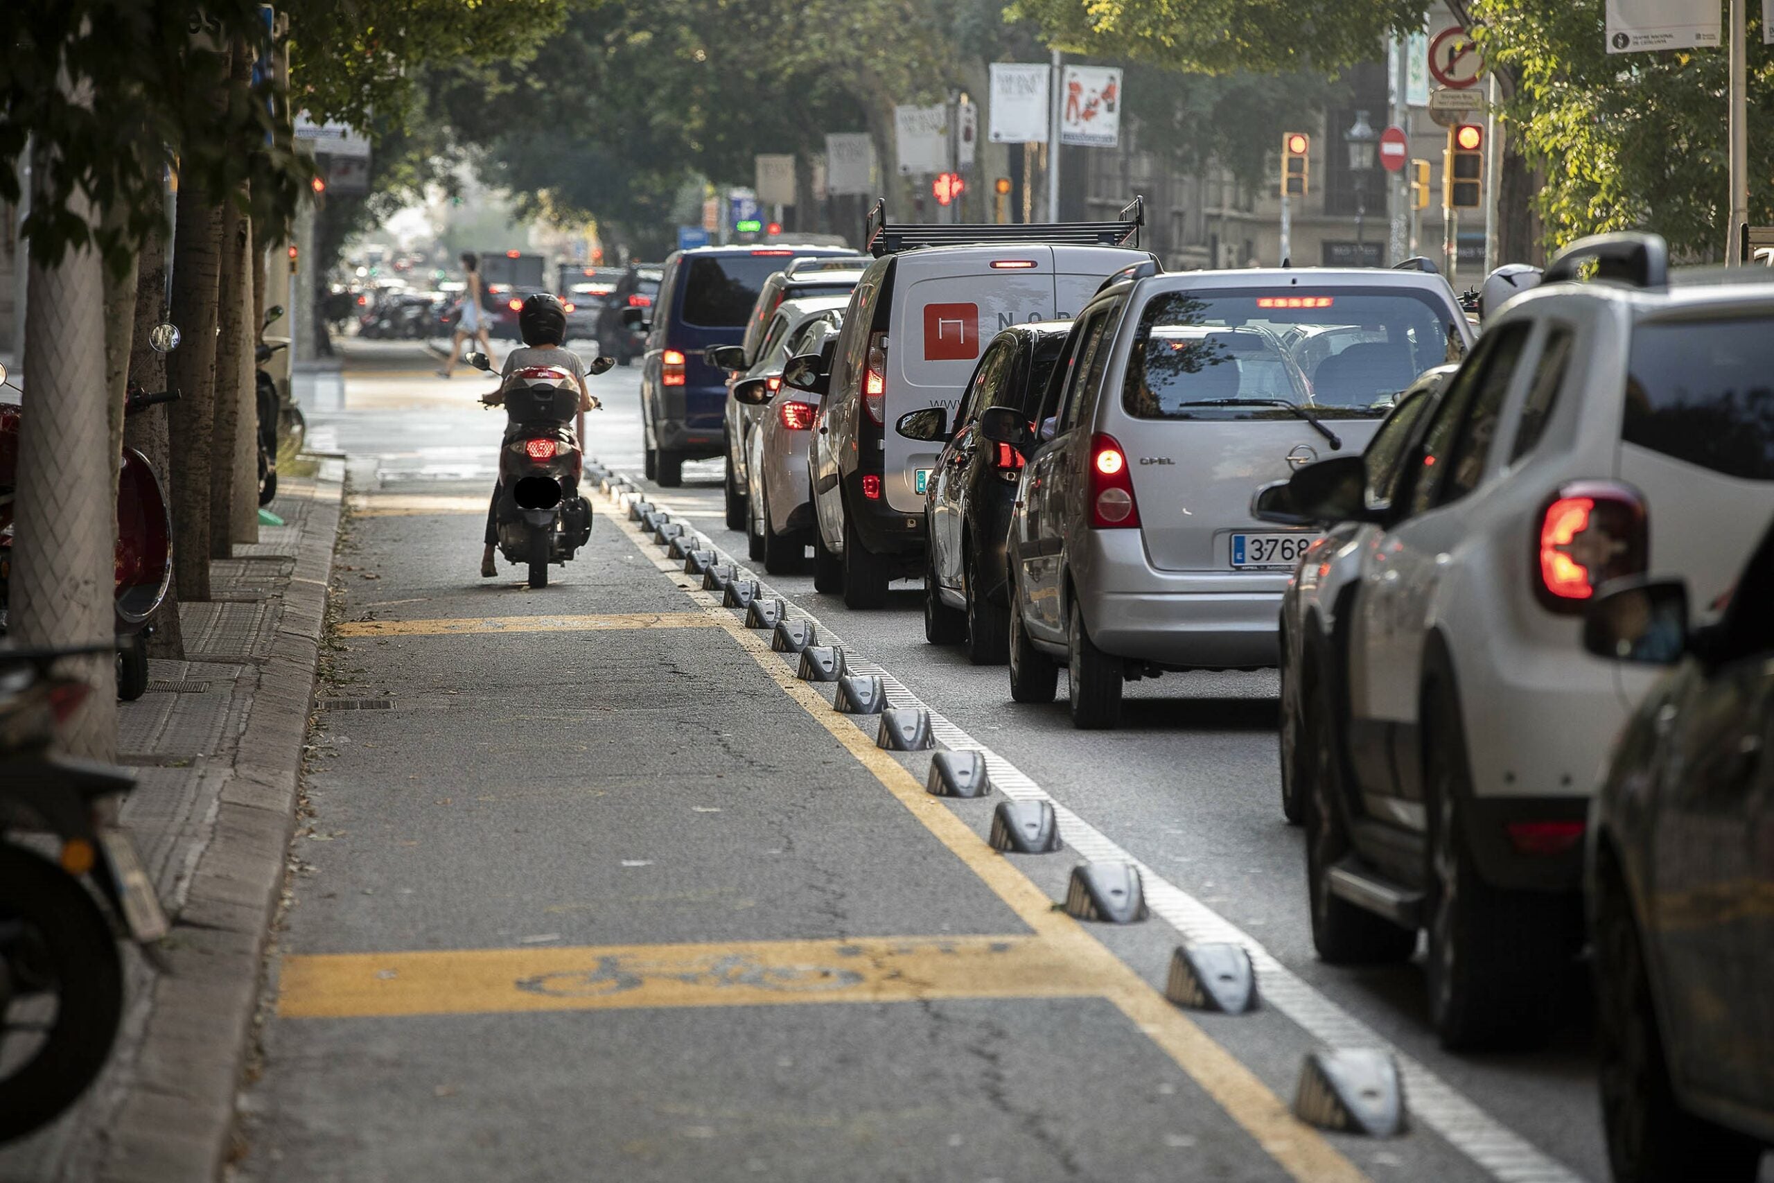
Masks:
[[[135,1082],[98,1176],[105,1183],[215,1179],[232,1149],[264,944],[294,832],[342,493],[341,482],[316,484],[213,835],[167,940]]]

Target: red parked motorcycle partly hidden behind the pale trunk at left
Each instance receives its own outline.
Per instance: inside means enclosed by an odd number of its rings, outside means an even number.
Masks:
[[[169,353],[179,344],[179,330],[160,325],[149,344]],[[5,367],[0,365],[0,385]],[[12,387],[18,390],[18,387]],[[142,390],[135,381],[124,394],[124,415],[160,403],[172,403],[177,390]],[[12,575],[12,488],[18,482],[18,429],[21,408],[0,404],[0,635],[7,631]],[[147,693],[147,639],[153,619],[172,584],[172,516],[167,495],[147,456],[122,449],[117,472],[117,541],[114,550],[114,603],[117,630],[117,697],[133,702]]]

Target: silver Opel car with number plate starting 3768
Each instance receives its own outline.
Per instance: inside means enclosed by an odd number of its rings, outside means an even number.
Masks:
[[[1472,330],[1425,271],[1260,270],[1116,278],[1079,312],[1009,525],[1011,695],[1112,727],[1128,679],[1277,660],[1288,575],[1313,530],[1251,516],[1252,491],[1361,452],[1410,381]],[[1123,273],[1126,275],[1126,273]]]

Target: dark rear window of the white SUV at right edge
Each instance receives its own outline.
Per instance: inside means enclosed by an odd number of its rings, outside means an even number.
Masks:
[[[1774,325],[1639,325],[1621,438],[1728,477],[1774,481]]]

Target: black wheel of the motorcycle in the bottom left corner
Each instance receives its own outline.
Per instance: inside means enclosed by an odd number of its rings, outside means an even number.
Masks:
[[[55,1016],[0,1077],[0,1142],[48,1124],[92,1084],[122,1018],[117,938],[85,887],[53,862],[0,844],[0,1036],[28,1039],[44,995]],[[11,1032],[7,1029],[16,1029]],[[11,1043],[11,1039],[9,1039]],[[14,1045],[16,1048],[16,1045]]]

